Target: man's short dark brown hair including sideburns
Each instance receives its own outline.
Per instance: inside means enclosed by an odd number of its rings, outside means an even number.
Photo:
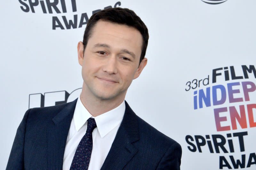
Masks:
[[[92,36],[92,28],[97,23],[98,20],[109,21],[117,24],[124,24],[127,26],[131,26],[140,31],[142,35],[142,49],[140,54],[140,62],[146,55],[146,50],[148,46],[148,28],[144,24],[144,22],[140,19],[136,13],[127,8],[109,8],[102,11],[99,11],[92,15],[92,17],[88,20],[85,31],[84,31],[84,50],[86,48],[88,39]]]

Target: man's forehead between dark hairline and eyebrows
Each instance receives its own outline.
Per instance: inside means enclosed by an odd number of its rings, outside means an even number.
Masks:
[[[125,48],[140,55],[142,41],[141,33],[131,26],[99,20],[92,29],[88,45],[104,43],[111,48]]]

